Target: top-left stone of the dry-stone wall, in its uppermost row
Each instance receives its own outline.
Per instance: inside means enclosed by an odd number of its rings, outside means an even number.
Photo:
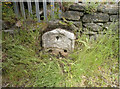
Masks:
[[[75,10],[75,11],[84,11],[85,10],[85,4],[77,3],[74,5],[71,5],[69,7],[70,10]]]

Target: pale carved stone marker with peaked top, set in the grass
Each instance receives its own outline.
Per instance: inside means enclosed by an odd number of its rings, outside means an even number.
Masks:
[[[42,35],[42,46],[44,50],[55,55],[67,56],[74,50],[75,35],[61,28],[48,31]]]

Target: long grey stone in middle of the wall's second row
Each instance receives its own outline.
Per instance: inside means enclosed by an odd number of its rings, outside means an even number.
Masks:
[[[107,22],[109,21],[109,15],[104,13],[94,13],[93,15],[84,15],[83,22]]]

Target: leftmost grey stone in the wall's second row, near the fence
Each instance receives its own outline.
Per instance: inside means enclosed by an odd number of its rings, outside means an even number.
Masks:
[[[80,16],[83,16],[83,13],[78,11],[66,11],[63,13],[63,17],[67,20],[80,20]]]

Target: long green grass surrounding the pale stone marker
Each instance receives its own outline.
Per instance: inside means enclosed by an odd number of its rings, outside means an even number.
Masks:
[[[74,52],[59,58],[42,51],[41,26],[35,31],[3,33],[3,86],[118,86],[118,34],[107,32],[92,42],[79,36]]]

